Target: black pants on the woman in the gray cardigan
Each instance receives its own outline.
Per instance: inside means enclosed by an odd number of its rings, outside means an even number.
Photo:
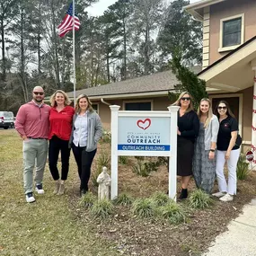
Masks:
[[[90,180],[91,176],[91,166],[97,149],[87,152],[86,146],[75,146],[73,143],[72,150],[81,180],[80,190],[88,191],[88,181]]]

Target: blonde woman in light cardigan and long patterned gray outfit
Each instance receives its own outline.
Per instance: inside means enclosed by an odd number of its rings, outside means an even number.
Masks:
[[[200,101],[198,115],[200,129],[195,144],[193,176],[197,187],[209,194],[216,177],[215,153],[219,123],[207,98]]]

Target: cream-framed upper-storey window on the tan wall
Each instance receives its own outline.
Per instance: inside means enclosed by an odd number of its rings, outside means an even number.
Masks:
[[[243,44],[244,14],[220,20],[220,48],[218,51],[232,50]]]

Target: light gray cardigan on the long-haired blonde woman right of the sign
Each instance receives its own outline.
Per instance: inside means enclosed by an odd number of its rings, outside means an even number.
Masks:
[[[209,121],[207,128],[205,128],[205,150],[210,150],[211,143],[216,142],[218,128],[218,119],[216,115],[213,115],[212,119]]]

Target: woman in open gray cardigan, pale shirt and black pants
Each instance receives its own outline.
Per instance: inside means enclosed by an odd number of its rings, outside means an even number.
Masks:
[[[91,166],[97,151],[97,143],[101,137],[102,121],[93,110],[88,96],[81,94],[76,100],[73,128],[69,140],[81,180],[81,196],[88,191]]]

